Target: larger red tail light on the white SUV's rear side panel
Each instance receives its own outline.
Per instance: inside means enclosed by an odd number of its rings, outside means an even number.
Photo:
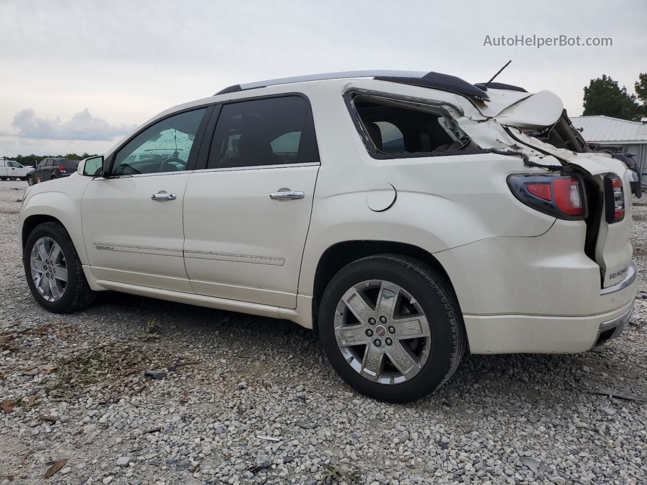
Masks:
[[[586,219],[584,182],[573,175],[510,175],[508,186],[527,206],[559,219]]]

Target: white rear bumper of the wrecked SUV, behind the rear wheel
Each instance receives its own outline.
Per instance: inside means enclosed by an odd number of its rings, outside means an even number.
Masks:
[[[538,237],[500,237],[435,253],[463,312],[474,354],[575,353],[616,338],[631,316],[637,270],[600,288],[582,251],[584,224]]]

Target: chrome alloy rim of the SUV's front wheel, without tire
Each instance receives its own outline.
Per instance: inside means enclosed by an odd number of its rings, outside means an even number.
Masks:
[[[47,301],[59,301],[67,287],[67,264],[61,247],[50,237],[36,241],[30,255],[32,280]]]

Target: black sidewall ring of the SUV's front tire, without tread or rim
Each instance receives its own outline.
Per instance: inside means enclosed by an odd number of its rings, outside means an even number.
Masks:
[[[36,241],[38,241],[38,239],[40,239],[41,237],[50,237],[51,239],[56,241],[58,246],[61,248],[61,252],[63,252],[65,263],[67,264],[67,286],[65,287],[63,297],[58,301],[47,301],[45,298],[43,298],[39,293],[38,288],[36,288],[34,280],[32,279],[30,266],[32,248],[34,247],[34,244],[36,244]],[[47,222],[45,224],[36,226],[36,228],[32,231],[32,233],[30,233],[29,237],[27,238],[27,243],[25,244],[25,254],[23,255],[23,265],[25,266],[25,277],[27,277],[27,285],[29,286],[32,295],[34,295],[34,298],[36,298],[36,301],[38,301],[39,305],[41,305],[41,307],[43,308],[46,308],[50,312],[62,313],[67,311],[67,308],[72,305],[72,301],[74,300],[76,293],[74,291],[74,288],[76,288],[77,285],[81,284],[81,282],[78,280],[78,264],[79,262],[76,260],[74,250],[71,247],[71,242],[69,241],[69,237],[65,237],[65,235],[61,233],[58,228],[56,228],[56,225],[54,223]]]

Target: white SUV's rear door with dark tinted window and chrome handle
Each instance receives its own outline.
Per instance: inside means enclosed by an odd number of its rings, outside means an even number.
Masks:
[[[197,294],[284,308],[296,292],[319,155],[304,96],[226,103],[184,198]]]

